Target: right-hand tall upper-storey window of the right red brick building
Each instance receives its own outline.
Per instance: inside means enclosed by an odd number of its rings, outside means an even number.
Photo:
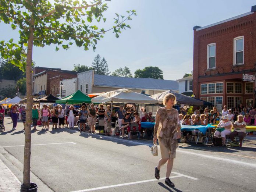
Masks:
[[[234,39],[234,65],[243,64],[243,36]]]

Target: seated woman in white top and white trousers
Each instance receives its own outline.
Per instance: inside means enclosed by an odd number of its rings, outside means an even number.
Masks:
[[[226,141],[226,135],[231,134],[231,129],[232,129],[232,122],[229,120],[228,115],[225,115],[223,117],[223,121],[221,121],[217,128],[224,128],[222,131],[215,131],[214,132],[214,138],[218,138],[221,136],[222,138],[222,146],[225,146],[225,141]]]

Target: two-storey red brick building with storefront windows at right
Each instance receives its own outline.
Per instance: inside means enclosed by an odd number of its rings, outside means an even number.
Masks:
[[[195,26],[193,50],[193,93],[220,111],[239,103],[255,102],[256,6],[251,11],[204,27]]]

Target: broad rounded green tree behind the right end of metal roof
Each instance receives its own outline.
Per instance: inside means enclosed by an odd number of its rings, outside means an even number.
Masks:
[[[145,67],[144,69],[136,70],[134,72],[134,77],[139,78],[153,78],[153,79],[164,79],[163,71],[160,70],[158,67]]]

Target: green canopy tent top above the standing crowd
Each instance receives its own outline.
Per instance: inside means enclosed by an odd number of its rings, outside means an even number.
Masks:
[[[80,90],[73,93],[70,96],[64,97],[60,100],[56,100],[56,103],[68,103],[68,104],[77,104],[77,103],[91,103],[91,98],[83,94]]]

